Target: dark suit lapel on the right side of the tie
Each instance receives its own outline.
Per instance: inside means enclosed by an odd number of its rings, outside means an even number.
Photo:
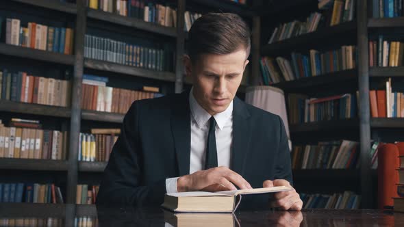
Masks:
[[[233,108],[231,170],[243,175],[251,138],[251,125],[248,122],[250,114],[245,104],[237,97],[234,98]]]

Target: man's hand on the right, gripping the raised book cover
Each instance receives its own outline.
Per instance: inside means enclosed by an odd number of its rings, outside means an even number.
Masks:
[[[263,187],[286,186],[293,188],[286,180],[266,180],[262,183]],[[271,207],[280,207],[283,210],[301,211],[303,201],[295,189],[293,191],[279,191],[274,195],[275,200],[270,201]]]

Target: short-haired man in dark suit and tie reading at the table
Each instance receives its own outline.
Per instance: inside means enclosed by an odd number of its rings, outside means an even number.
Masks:
[[[191,91],[134,102],[123,120],[99,204],[162,204],[176,191],[290,186],[288,138],[279,116],[236,98],[251,49],[236,14],[206,14],[189,32]],[[246,207],[300,210],[293,191],[245,196]],[[248,206],[247,206],[248,205]]]

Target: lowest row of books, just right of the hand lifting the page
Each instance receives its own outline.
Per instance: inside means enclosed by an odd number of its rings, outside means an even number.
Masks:
[[[300,193],[300,198],[303,209],[359,209],[362,196],[344,191],[333,195]]]

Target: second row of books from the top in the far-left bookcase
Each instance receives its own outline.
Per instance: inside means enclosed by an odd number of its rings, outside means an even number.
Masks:
[[[23,103],[70,106],[71,81],[0,71],[0,98]]]

